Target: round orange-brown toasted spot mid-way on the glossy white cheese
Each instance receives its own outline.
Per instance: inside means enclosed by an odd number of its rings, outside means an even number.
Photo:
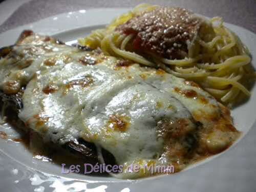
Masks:
[[[125,132],[129,126],[127,122],[127,117],[121,115],[111,115],[110,120],[108,121],[109,126],[113,127],[115,131]]]

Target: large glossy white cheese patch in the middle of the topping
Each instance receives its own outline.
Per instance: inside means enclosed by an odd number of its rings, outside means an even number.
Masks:
[[[76,56],[79,60],[82,55]],[[47,132],[54,142],[82,137],[98,143],[114,154],[118,163],[159,155],[163,141],[156,136],[156,123],[163,117],[192,117],[176,98],[144,82],[139,65],[131,67],[132,74],[126,68],[116,71],[115,63],[115,58],[108,58],[84,66],[73,60],[38,72],[24,93],[19,117],[37,131]],[[88,86],[69,86],[88,78],[92,79]],[[56,90],[44,93],[49,86]],[[44,123],[38,124],[41,121]],[[115,121],[125,121],[126,130],[114,129]]]

